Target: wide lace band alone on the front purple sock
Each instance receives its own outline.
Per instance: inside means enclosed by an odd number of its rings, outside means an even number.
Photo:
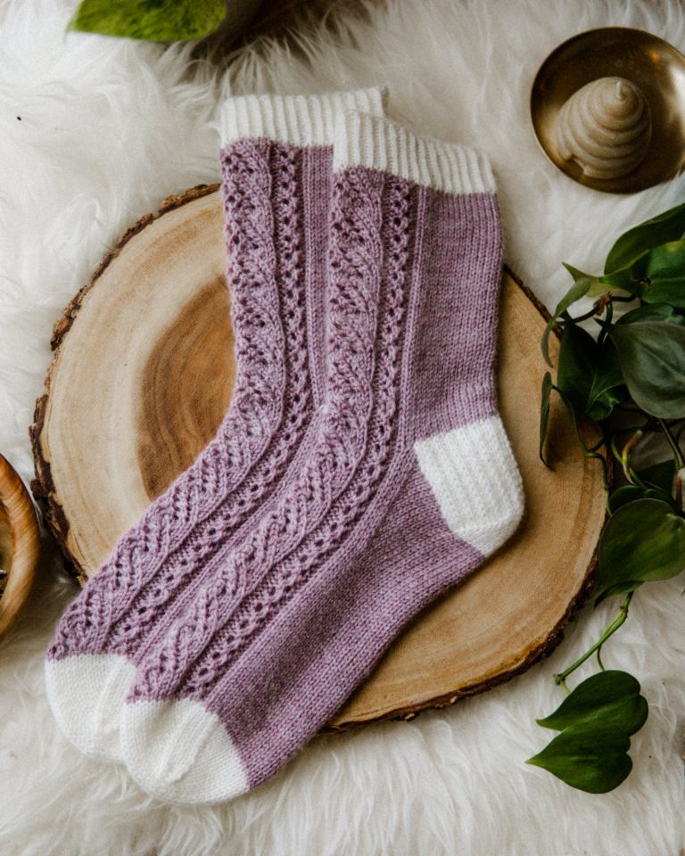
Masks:
[[[163,639],[161,651],[139,670],[131,697],[163,697],[175,691],[185,671],[202,654],[235,605],[269,568],[297,547],[320,523],[348,486],[367,441],[374,403],[376,318],[383,259],[383,177],[365,171],[334,185],[334,240],[328,300],[327,412],[314,449],[301,473],[287,486],[272,514],[260,519],[194,604]]]

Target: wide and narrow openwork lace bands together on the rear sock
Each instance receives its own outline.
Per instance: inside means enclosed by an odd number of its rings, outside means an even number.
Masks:
[[[139,640],[163,605],[263,501],[292,457],[311,414],[300,172],[301,151],[292,146],[243,140],[223,153],[238,366],[231,407],[194,465],[70,605],[49,657],[105,646],[140,653]]]

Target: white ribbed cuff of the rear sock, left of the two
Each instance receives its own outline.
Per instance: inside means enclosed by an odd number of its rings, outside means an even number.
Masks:
[[[352,89],[324,95],[235,95],[219,108],[221,144],[266,137],[292,145],[330,145],[335,115],[351,110],[384,115],[387,90]]]

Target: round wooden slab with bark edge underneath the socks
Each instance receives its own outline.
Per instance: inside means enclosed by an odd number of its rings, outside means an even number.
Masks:
[[[32,488],[78,578],[209,442],[234,380],[219,193],[201,186],[130,229],[72,300],[31,430]],[[499,394],[524,478],[524,523],[397,638],[330,728],[449,704],[549,654],[582,603],[604,521],[595,462],[552,408],[540,462],[544,310],[505,273]],[[555,353],[557,342],[552,343]]]

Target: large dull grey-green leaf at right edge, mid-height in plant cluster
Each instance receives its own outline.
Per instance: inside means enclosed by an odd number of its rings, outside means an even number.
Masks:
[[[612,325],[609,337],[632,399],[652,416],[685,416],[685,327],[666,321]]]

